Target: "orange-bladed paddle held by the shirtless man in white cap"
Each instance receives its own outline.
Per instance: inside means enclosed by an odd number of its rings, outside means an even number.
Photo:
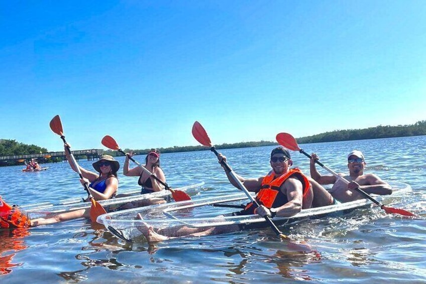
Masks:
[[[294,139],[294,137],[291,134],[288,134],[288,133],[278,133],[276,139],[277,139],[277,142],[280,145],[286,147],[287,149],[290,149],[290,150],[293,150],[293,151],[299,151],[300,153],[304,154],[309,159],[312,158],[308,153],[306,153],[305,151],[303,151],[302,149],[299,148],[299,145],[297,145],[296,139]],[[326,165],[324,165],[322,162],[320,162],[318,160],[315,160],[315,163],[317,163],[318,165],[322,166],[324,169],[328,170],[336,178],[340,178],[346,184],[349,184],[349,181],[347,179],[345,179],[342,176],[340,176],[339,174],[337,174],[335,171],[333,171],[332,169],[330,169],[329,167],[327,167]],[[398,208],[392,208],[392,207],[384,206],[383,204],[381,204],[380,202],[378,202],[377,200],[375,200],[373,197],[371,197],[368,193],[366,193],[365,191],[363,191],[359,187],[357,187],[356,190],[359,193],[361,193],[365,198],[371,200],[376,205],[380,206],[380,208],[383,209],[387,214],[394,213],[394,214],[400,214],[400,215],[403,215],[403,216],[416,216],[415,214],[413,214],[411,212],[408,212],[406,210],[403,210],[403,209],[398,209]]]

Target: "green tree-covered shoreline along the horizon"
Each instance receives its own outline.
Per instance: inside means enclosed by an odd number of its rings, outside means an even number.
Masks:
[[[365,140],[365,139],[378,139],[378,138],[393,138],[393,137],[406,137],[406,136],[421,136],[426,135],[426,120],[418,121],[411,125],[398,125],[398,126],[376,126],[365,129],[350,129],[350,130],[335,130],[325,132],[312,136],[305,136],[296,138],[298,144],[306,143],[320,143],[320,142],[335,142],[335,141],[351,141],[351,140]],[[273,141],[258,141],[258,142],[239,142],[239,143],[224,143],[215,145],[217,149],[233,149],[233,148],[247,148],[247,147],[260,147],[278,145]],[[144,155],[150,149],[133,150],[137,155]],[[159,148],[161,153],[175,153],[175,152],[190,152],[190,151],[203,151],[208,150],[205,146],[173,146],[167,148]],[[130,149],[124,149],[129,152]],[[46,148],[36,145],[27,145],[19,143],[16,140],[0,139],[0,157],[11,155],[24,155],[24,154],[38,154],[49,152]],[[123,156],[123,154],[113,151],[105,150],[105,154],[112,156]]]

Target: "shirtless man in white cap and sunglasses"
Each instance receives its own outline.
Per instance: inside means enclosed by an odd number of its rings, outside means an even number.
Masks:
[[[315,167],[315,160],[319,159],[318,156],[315,153],[312,153],[311,156],[310,176],[319,184],[333,184],[329,193],[339,202],[344,203],[364,199],[364,196],[356,191],[355,188],[357,187],[368,194],[392,194],[392,188],[388,183],[374,173],[364,173],[366,165],[365,158],[359,150],[353,150],[348,154],[349,175],[339,173],[340,176],[350,181],[349,184],[334,175],[321,175]]]

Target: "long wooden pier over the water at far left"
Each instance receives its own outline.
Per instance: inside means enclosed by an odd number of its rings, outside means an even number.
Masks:
[[[102,149],[76,150],[71,152],[77,161],[81,158],[87,159],[88,161],[97,160],[101,155],[103,155]],[[66,161],[64,151],[47,152],[47,153],[40,153],[40,154],[3,156],[3,157],[0,157],[0,166],[24,164],[24,161],[29,161],[31,159],[37,160],[38,163],[47,163],[47,162],[55,163],[55,162],[63,161],[63,160]]]

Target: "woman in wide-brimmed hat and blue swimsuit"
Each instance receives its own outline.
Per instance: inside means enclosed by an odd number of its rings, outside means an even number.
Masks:
[[[65,154],[71,168],[77,172],[67,149],[65,149]],[[97,172],[92,172],[79,166],[81,174],[83,175],[83,178],[80,179],[81,184],[88,184],[90,194],[95,200],[107,200],[113,198],[118,191],[119,180],[117,178],[117,171],[120,169],[120,163],[110,155],[102,155],[100,159],[92,165]],[[61,213],[50,218],[38,218],[31,220],[31,226],[52,224],[82,217],[88,218],[89,216],[90,208],[80,209]]]

